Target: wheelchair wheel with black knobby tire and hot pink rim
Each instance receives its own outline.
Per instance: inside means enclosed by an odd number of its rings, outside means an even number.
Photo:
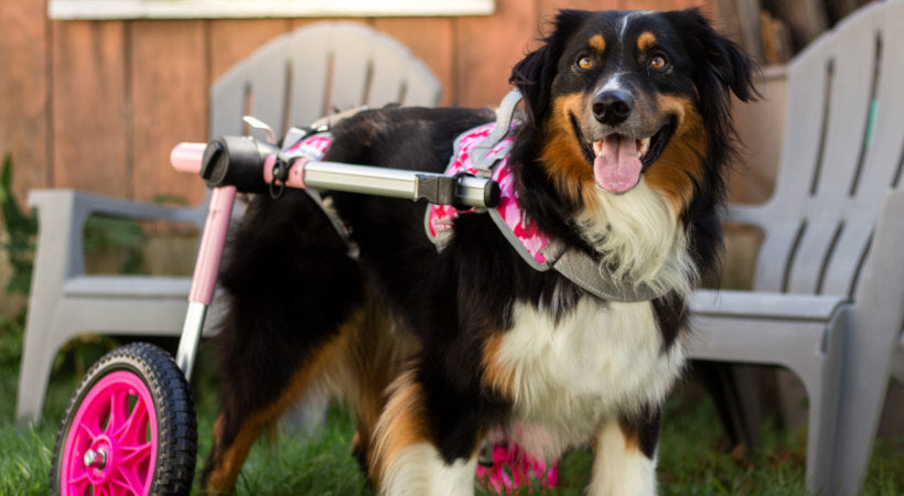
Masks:
[[[133,343],[104,355],[75,389],[56,434],[50,493],[189,494],[196,456],[185,376],[169,353]]]

